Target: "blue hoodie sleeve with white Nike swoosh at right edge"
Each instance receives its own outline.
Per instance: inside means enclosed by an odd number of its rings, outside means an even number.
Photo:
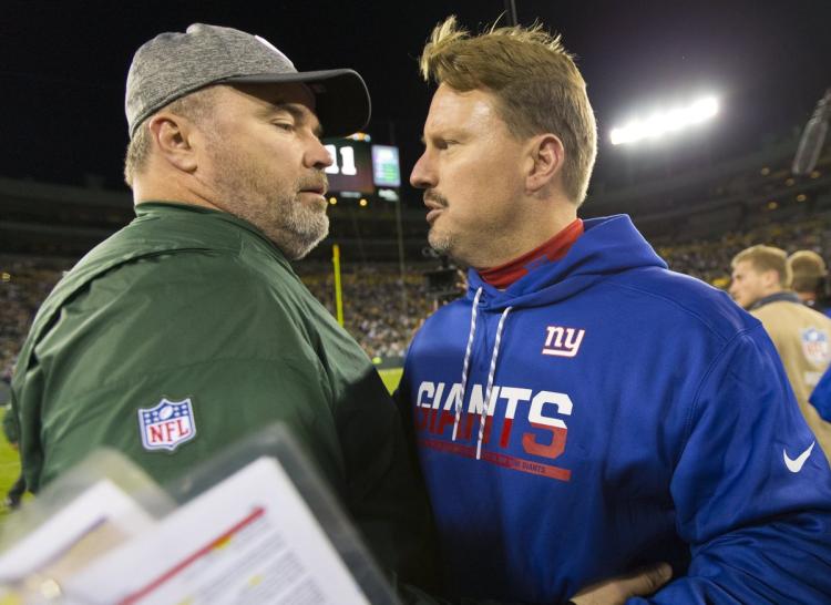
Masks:
[[[649,602],[831,603],[831,471],[763,328],[711,365],[688,435],[670,490],[691,562]]]

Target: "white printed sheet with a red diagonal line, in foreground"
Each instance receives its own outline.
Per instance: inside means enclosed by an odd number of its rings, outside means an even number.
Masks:
[[[302,498],[261,458],[63,584],[68,602],[368,604]]]

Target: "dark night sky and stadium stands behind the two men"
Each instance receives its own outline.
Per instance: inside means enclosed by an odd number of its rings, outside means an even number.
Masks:
[[[394,386],[413,330],[458,291],[452,269],[435,273],[448,267],[425,249],[421,196],[407,184],[430,95],[416,58],[447,14],[476,29],[505,4],[309,4],[3,3],[0,403],[50,288],[133,216],[121,182],[123,85],[132,52],[152,35],[194,21],[259,33],[302,70],[348,65],[366,78],[371,140],[332,144],[362,146],[365,154],[371,144],[396,146],[401,185],[376,185],[371,175],[369,184],[341,184],[356,191],[332,192],[330,236],[297,270],[336,312],[331,257],[339,246],[345,325]],[[790,170],[802,129],[831,85],[829,2],[517,0],[516,7],[520,22],[540,19],[563,33],[588,83],[601,148],[582,217],[630,214],[670,268],[716,287],[728,285],[732,255],[752,244],[810,248],[829,259],[831,145],[810,174]],[[721,107],[701,127],[642,145],[609,144],[609,129],[638,109],[702,92],[717,94]],[[3,493],[16,478],[16,459],[0,441]]]

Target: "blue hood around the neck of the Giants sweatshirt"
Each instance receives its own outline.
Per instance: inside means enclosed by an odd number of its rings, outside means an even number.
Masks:
[[[481,288],[483,308],[535,307],[570,298],[596,281],[635,268],[667,268],[649,243],[624,214],[589,218],[585,233],[560,260],[543,263],[505,290],[486,284],[475,269],[468,271],[468,298]]]

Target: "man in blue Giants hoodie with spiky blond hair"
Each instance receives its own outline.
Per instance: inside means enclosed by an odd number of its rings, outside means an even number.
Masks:
[[[761,324],[627,216],[577,218],[596,127],[560,40],[450,18],[421,68],[411,183],[470,288],[399,401],[450,591],[554,603],[669,561],[650,602],[831,602],[831,471]]]

